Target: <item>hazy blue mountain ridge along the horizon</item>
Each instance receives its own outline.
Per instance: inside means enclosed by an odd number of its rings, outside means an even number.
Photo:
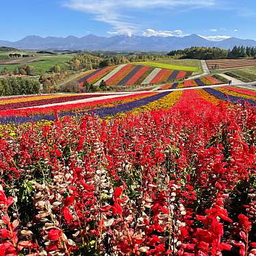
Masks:
[[[48,36],[26,36],[16,42],[0,40],[0,46],[16,47],[21,49],[57,49],[57,50],[88,50],[88,51],[172,51],[185,49],[192,46],[197,47],[220,47],[221,49],[231,49],[235,45],[244,47],[256,47],[255,40],[244,40],[239,38],[227,38],[214,42],[202,38],[196,34],[184,36],[183,38],[170,36],[103,36],[88,35],[82,38],[67,36],[60,38]]]

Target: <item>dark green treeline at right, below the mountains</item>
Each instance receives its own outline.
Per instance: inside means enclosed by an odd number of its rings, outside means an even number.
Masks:
[[[238,57],[256,57],[256,47],[235,46],[232,50],[218,47],[190,47],[170,51],[167,55],[180,59],[218,60]]]

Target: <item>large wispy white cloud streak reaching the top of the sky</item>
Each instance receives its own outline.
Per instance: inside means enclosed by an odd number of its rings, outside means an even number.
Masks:
[[[217,0],[66,0],[65,6],[79,12],[92,14],[96,21],[110,24],[112,32],[131,36],[141,31],[139,21],[127,16],[129,11],[173,8],[211,8]]]

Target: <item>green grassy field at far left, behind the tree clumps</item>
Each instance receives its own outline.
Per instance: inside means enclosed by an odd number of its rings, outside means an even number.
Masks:
[[[64,55],[44,55],[39,60],[35,62],[29,62],[27,65],[34,66],[35,72],[39,75],[42,71],[49,72],[51,68],[55,65],[59,65],[62,70],[69,69],[68,60],[71,60],[73,55],[64,54]],[[17,66],[23,66],[24,64],[0,64],[0,70],[4,67],[8,68],[8,71],[14,71]]]

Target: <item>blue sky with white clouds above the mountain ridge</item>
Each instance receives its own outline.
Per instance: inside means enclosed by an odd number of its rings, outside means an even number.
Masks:
[[[255,25],[255,0],[1,0],[0,40],[88,34],[256,40]]]

